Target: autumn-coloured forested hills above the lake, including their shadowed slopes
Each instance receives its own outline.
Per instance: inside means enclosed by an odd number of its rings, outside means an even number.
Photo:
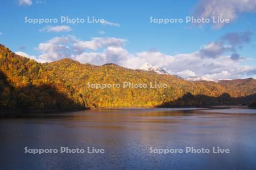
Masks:
[[[147,84],[147,88],[92,88],[90,84]],[[167,88],[149,88],[150,82]],[[94,66],[72,59],[38,63],[0,44],[0,108],[68,110],[95,107],[172,107],[255,104],[256,80],[189,82],[172,75]]]

